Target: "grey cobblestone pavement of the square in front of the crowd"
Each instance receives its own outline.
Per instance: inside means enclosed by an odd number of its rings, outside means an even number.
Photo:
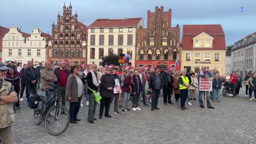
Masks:
[[[181,110],[180,103],[164,105],[160,97],[161,110],[141,106],[140,111],[115,115],[112,103],[113,117],[103,117],[94,124],[87,122],[84,101],[78,113],[82,121],[69,124],[59,136],[47,133],[43,123],[35,125],[33,109],[22,102],[15,114],[15,143],[256,143],[256,101],[244,97],[244,89],[238,98],[223,98],[221,94],[221,102],[212,102],[215,109],[207,110],[198,107],[198,99],[187,106],[188,110]],[[95,117],[98,115],[99,105]]]

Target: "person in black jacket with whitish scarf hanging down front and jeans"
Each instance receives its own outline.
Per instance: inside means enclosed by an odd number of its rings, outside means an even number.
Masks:
[[[98,74],[97,74],[97,65],[95,63],[92,64],[92,69],[87,74],[87,85],[90,87],[90,89],[99,92],[99,81],[98,81]],[[88,121],[89,123],[94,123],[97,118],[94,118],[95,110],[97,107],[97,102],[95,101],[95,96],[91,90],[88,88],[88,94],[89,94],[89,110],[88,110]]]

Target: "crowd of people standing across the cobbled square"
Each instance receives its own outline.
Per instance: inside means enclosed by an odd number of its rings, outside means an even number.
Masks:
[[[199,79],[212,77],[212,91],[199,91]],[[243,79],[239,73],[232,73],[228,82],[223,84],[226,90],[229,91],[229,96],[239,94],[239,89],[242,87]],[[252,100],[252,92],[254,97],[256,93],[256,73],[253,75],[248,73],[244,78],[247,91],[249,90],[250,100]],[[10,83],[7,83],[10,82]],[[146,101],[146,92],[152,93],[151,110],[159,110],[158,99],[163,90],[163,103],[173,105],[172,95],[174,93],[175,102],[180,100],[180,108],[188,109],[187,105],[193,105],[192,101],[198,98],[199,107],[205,108],[204,99],[206,99],[207,107],[214,109],[211,101],[220,102],[220,90],[222,86],[221,76],[217,69],[206,71],[203,66],[197,73],[174,69],[159,69],[145,67],[136,67],[135,69],[124,69],[124,67],[116,66],[114,68],[103,68],[92,65],[70,66],[67,67],[66,61],[61,61],[58,65],[52,66],[50,61],[45,62],[45,66],[39,62],[38,66],[34,67],[33,62],[29,61],[28,65],[20,64],[17,66],[15,61],[0,62],[0,86],[1,88],[1,123],[2,127],[9,127],[8,132],[13,130],[13,109],[10,109],[11,103],[15,102],[17,110],[20,109],[20,101],[24,101],[23,93],[26,88],[26,99],[29,101],[30,94],[37,94],[40,89],[47,100],[50,100],[55,95],[53,85],[58,85],[61,89],[58,91],[58,99],[60,104],[66,106],[69,102],[70,123],[76,124],[81,121],[77,117],[79,109],[83,107],[83,100],[88,109],[87,120],[89,123],[94,123],[97,120],[95,110],[97,104],[100,103],[99,119],[102,119],[103,113],[105,117],[112,117],[110,114],[111,103],[114,103],[113,113],[120,115],[129,111],[141,110],[140,98],[142,97],[143,105],[149,106]],[[199,97],[196,97],[196,91],[199,92]],[[95,100],[95,93],[100,92],[101,100]],[[205,94],[206,93],[206,94]],[[2,97],[8,95],[9,97]],[[207,95],[207,98],[205,98]],[[132,96],[132,105],[130,107],[130,97]],[[3,107],[5,106],[5,107]],[[146,107],[145,107],[146,108]],[[120,109],[120,112],[119,110]],[[7,117],[6,120],[3,120]],[[1,128],[0,133],[6,134]],[[10,133],[8,133],[10,134]],[[12,138],[4,139],[10,140]]]

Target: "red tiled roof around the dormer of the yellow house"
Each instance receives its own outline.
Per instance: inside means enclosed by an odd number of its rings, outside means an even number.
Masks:
[[[213,37],[212,48],[193,48],[193,38],[201,33]],[[221,25],[183,25],[182,50],[227,50]]]

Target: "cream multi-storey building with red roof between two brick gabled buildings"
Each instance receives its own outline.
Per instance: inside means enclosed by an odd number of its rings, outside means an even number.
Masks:
[[[98,19],[88,28],[87,63],[102,65],[102,57],[130,54],[129,65],[135,66],[137,29],[144,27],[142,18]]]

